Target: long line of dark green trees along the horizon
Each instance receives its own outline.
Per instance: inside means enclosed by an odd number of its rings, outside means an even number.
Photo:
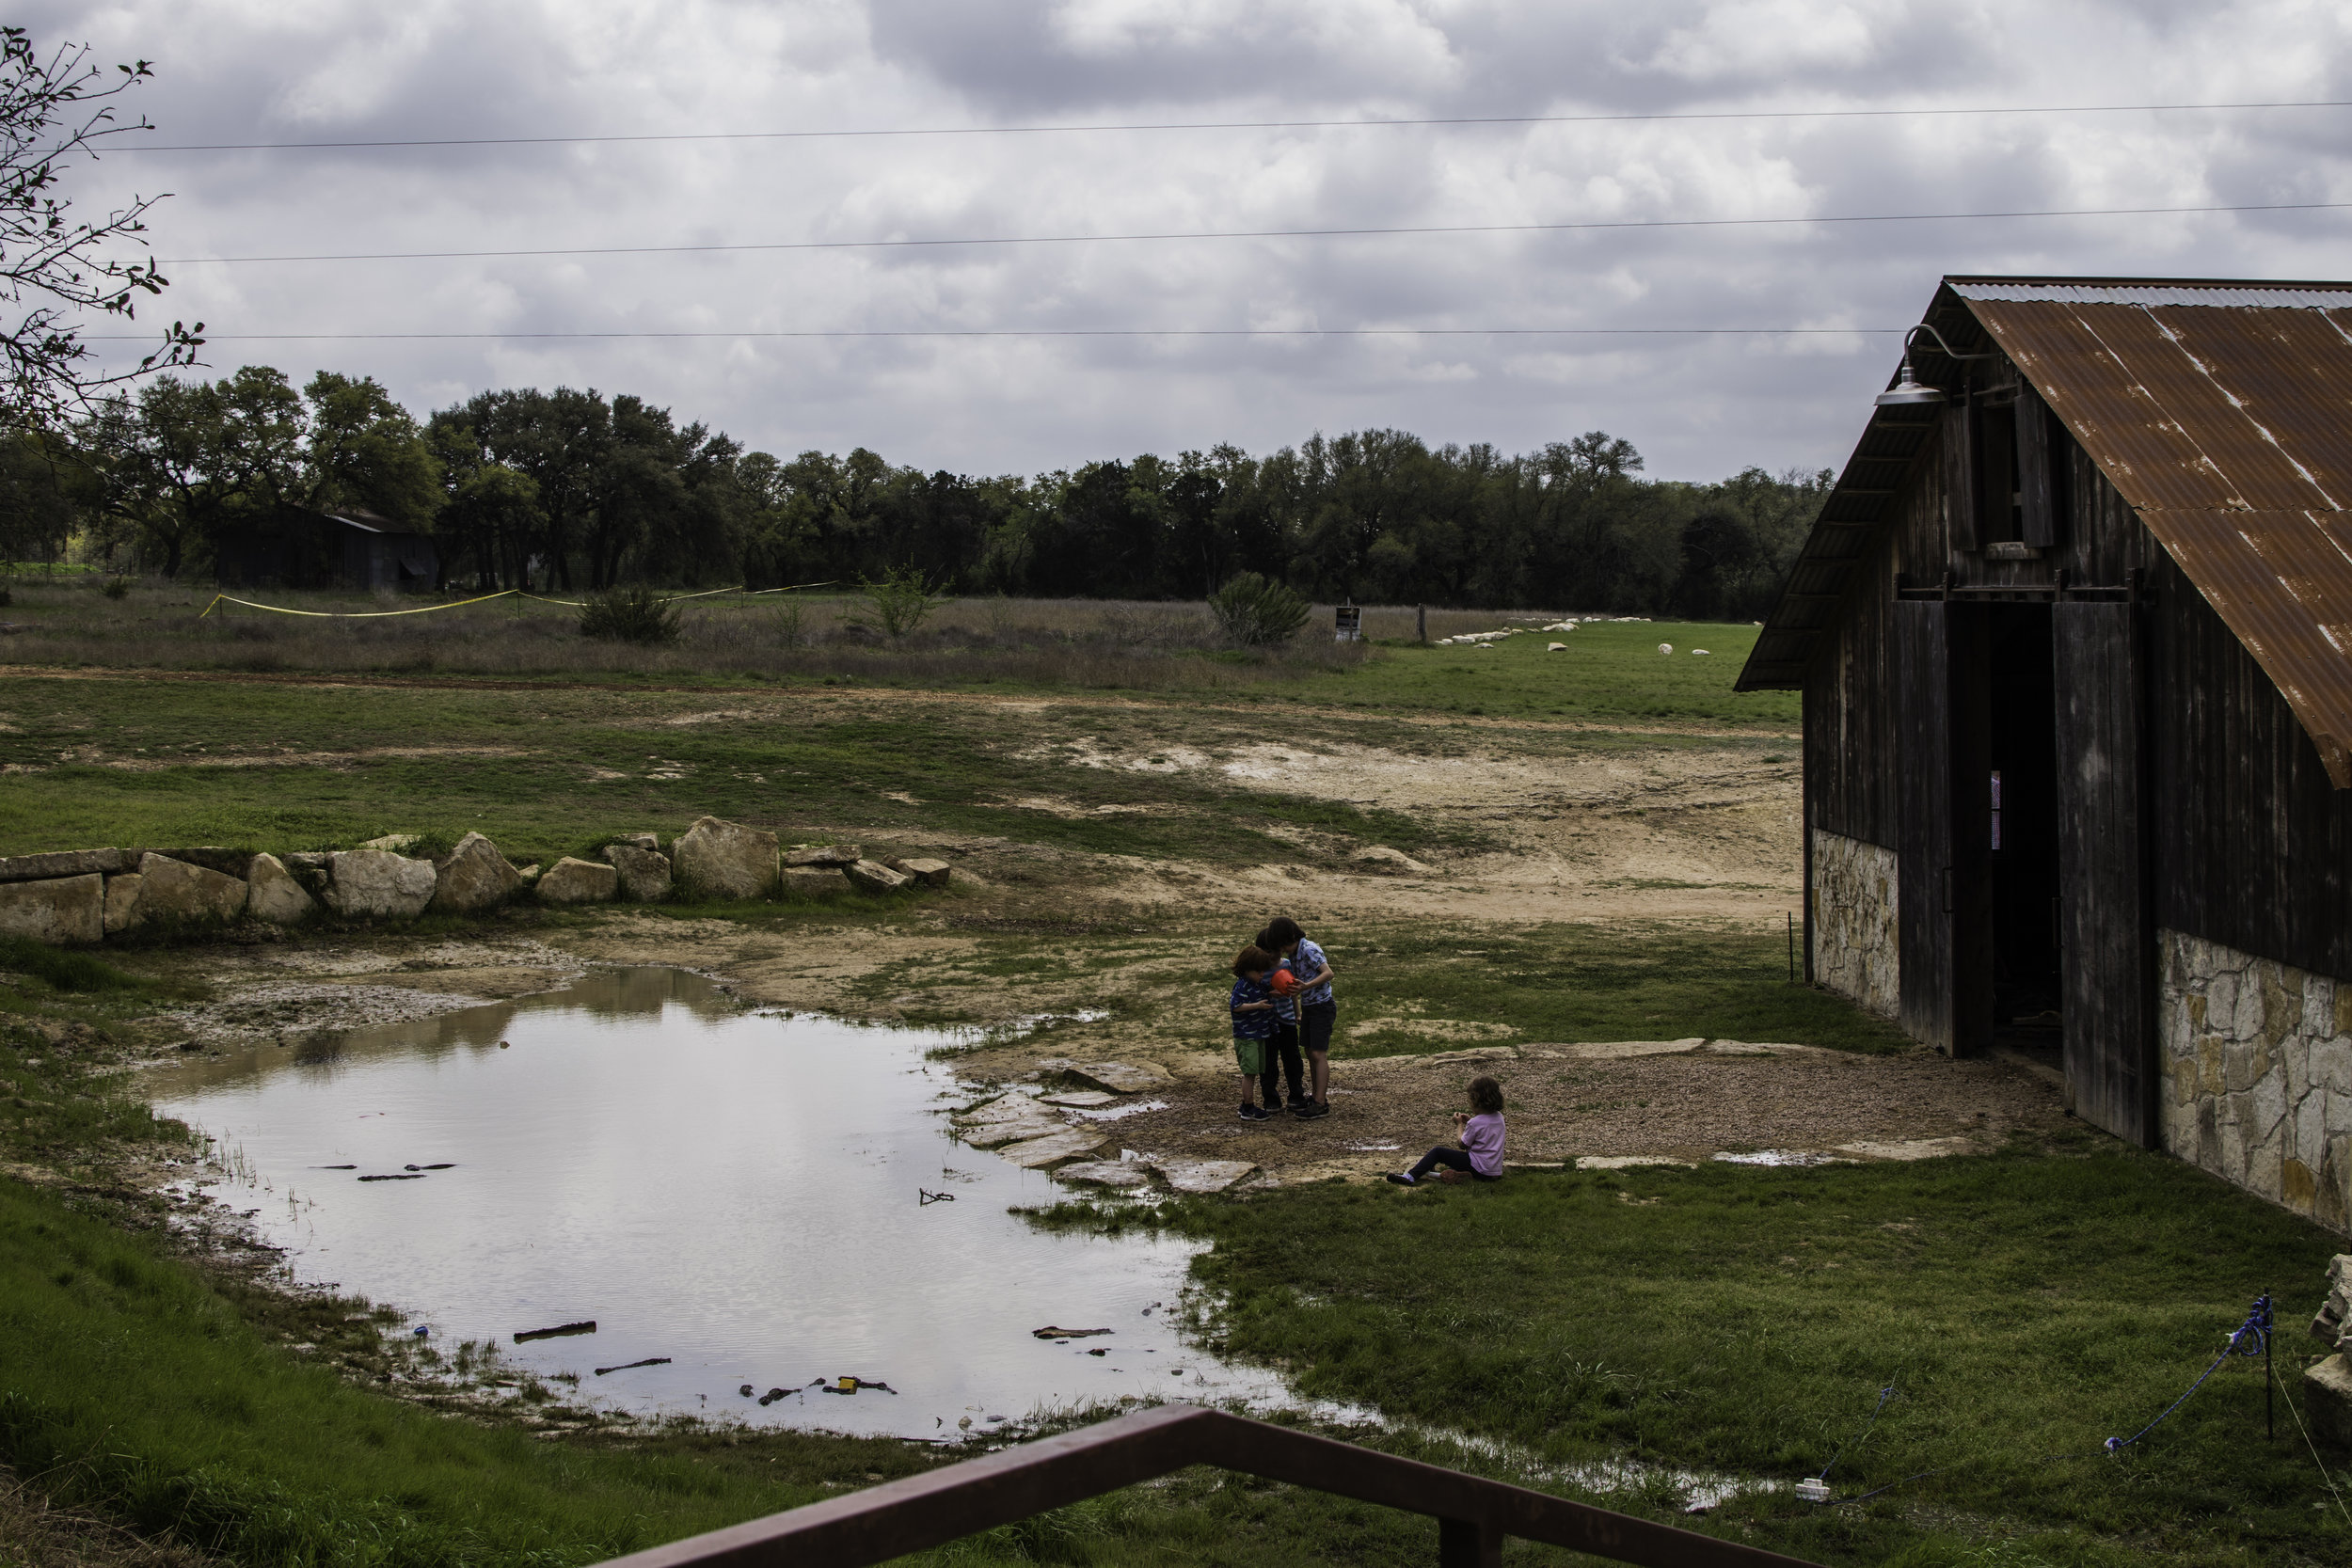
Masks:
[[[960,592],[1197,599],[1261,571],[1319,599],[1762,616],[1830,475],[1649,480],[1604,433],[1505,456],[1402,430],[974,477],[776,458],[642,397],[499,390],[416,421],[372,378],[162,376],[0,449],[0,550],[85,536],[209,571],[238,531],[365,510],[437,538],[445,588],[755,588],[920,569]]]

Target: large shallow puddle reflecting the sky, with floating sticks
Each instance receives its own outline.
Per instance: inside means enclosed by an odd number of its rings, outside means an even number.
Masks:
[[[1176,1335],[1190,1244],[1007,1213],[1056,1190],[948,1140],[953,1079],[924,1051],[953,1039],[746,1013],[699,976],[621,969],[148,1088],[249,1164],[254,1225],[299,1279],[395,1302],[445,1352],[494,1340],[510,1368],[579,1373],[626,1410],[955,1439],[967,1415],[978,1434],[1127,1394],[1294,1403]],[[595,1335],[513,1342],[581,1319]],[[668,1363],[595,1373],[649,1356]],[[840,1378],[896,1394],[809,1387]],[[760,1406],[743,1385],[797,1392]]]

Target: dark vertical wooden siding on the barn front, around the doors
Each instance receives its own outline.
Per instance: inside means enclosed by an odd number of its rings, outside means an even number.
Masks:
[[[2016,378],[2006,362],[1976,371],[1980,388]],[[2053,599],[2065,571],[2070,592],[2112,599],[2136,581],[2152,924],[2352,978],[2352,790],[2331,785],[2277,684],[2063,425],[2046,425],[2053,538],[2044,557],[2004,562],[1959,548],[1957,524],[1971,510],[1952,496],[1959,430],[1945,414],[1891,484],[1886,522],[1806,665],[1806,825],[1903,849],[1905,766],[1917,755],[1903,743],[1903,592],[1940,592],[1950,574],[1957,602]]]

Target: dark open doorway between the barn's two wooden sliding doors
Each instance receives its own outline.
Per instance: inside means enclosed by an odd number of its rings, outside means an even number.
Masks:
[[[2060,1065],[2058,703],[2049,604],[1985,607],[1992,1041]]]

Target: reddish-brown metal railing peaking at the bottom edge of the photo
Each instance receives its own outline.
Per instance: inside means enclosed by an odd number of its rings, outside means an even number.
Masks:
[[[1458,1469],[1399,1460],[1202,1406],[1136,1415],[1004,1448],[922,1476],[828,1497],[604,1568],[863,1568],[1115,1493],[1188,1465],[1218,1465],[1437,1519],[1439,1568],[1496,1568],[1517,1535],[1644,1568],[1813,1568],[1795,1556],[1677,1530]]]

